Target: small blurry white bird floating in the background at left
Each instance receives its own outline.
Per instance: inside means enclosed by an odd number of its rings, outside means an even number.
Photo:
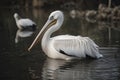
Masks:
[[[19,29],[22,29],[22,30],[27,29],[27,30],[32,30],[32,31],[36,29],[36,24],[32,20],[28,18],[21,19],[17,13],[14,14],[14,18],[15,18],[17,27]]]

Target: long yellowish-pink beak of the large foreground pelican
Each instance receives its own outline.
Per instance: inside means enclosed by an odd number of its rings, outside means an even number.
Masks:
[[[46,24],[43,26],[43,28],[41,29],[41,31],[38,33],[37,37],[35,38],[35,40],[33,41],[33,43],[31,44],[31,46],[28,48],[28,51],[30,51],[32,49],[33,46],[35,46],[43,37],[44,33],[47,31],[47,29],[49,29],[52,25],[56,24],[57,19],[54,19],[52,21],[47,21]]]

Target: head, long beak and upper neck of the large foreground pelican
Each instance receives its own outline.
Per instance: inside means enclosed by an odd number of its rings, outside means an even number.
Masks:
[[[51,35],[53,32],[58,30],[61,27],[63,20],[64,20],[64,15],[61,11],[57,10],[52,12],[48,17],[47,22],[45,23],[45,25],[43,26],[43,28],[41,29],[35,40],[33,41],[32,45],[28,48],[28,51],[30,51],[31,48],[43,38],[45,33]]]

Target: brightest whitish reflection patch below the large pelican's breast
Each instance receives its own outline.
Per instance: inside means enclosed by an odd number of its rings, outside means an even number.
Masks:
[[[66,63],[67,61],[65,60],[54,60],[51,58],[47,58],[43,66],[43,73],[42,73],[43,80],[56,79],[58,77],[57,70],[59,70]]]

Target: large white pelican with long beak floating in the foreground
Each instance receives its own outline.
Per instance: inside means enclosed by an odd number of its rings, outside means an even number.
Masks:
[[[75,57],[85,58],[86,55],[93,58],[102,57],[98,46],[88,37],[59,35],[50,38],[51,34],[61,27],[63,20],[64,15],[61,11],[52,12],[28,51],[42,39],[42,50],[53,59],[71,60]]]

